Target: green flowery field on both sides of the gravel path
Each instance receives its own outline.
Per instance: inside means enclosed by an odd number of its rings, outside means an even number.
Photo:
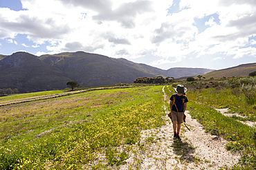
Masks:
[[[192,117],[208,133],[215,131],[230,141],[226,149],[241,154],[232,169],[254,168],[256,130],[214,109],[228,107],[230,113],[246,116],[243,121],[255,121],[254,105],[230,87],[196,89],[193,85],[186,85]],[[163,85],[102,89],[2,106],[0,169],[118,169],[136,152],[134,146],[145,149],[140,145],[143,129],[165,125],[163,105],[169,106],[163,102],[162,89]],[[165,92],[173,94],[172,85],[165,85]],[[46,94],[23,97],[35,95]],[[154,142],[154,138],[148,141]]]

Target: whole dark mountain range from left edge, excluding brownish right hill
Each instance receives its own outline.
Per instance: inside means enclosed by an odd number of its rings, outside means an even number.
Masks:
[[[161,70],[127,59],[86,52],[63,52],[35,56],[27,52],[0,55],[0,89],[18,88],[20,92],[64,89],[68,81],[81,87],[97,87],[116,83],[133,83],[138,77],[196,76],[212,72],[203,68],[170,68]]]

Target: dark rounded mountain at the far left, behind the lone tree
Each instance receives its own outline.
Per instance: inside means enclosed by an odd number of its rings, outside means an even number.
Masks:
[[[17,52],[0,61],[0,88],[20,88],[29,92],[58,89],[66,87],[68,80],[61,70],[26,52]]]

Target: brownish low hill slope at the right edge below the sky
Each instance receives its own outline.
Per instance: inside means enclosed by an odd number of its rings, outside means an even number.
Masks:
[[[243,64],[238,65],[236,67],[230,67],[223,70],[216,70],[213,72],[209,72],[207,74],[204,74],[205,78],[221,78],[223,76],[225,77],[232,77],[232,76],[248,76],[250,72],[256,71],[256,63],[249,63],[249,64]]]

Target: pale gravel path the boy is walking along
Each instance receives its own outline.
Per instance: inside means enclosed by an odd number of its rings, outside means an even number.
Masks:
[[[163,103],[167,102],[169,98],[164,92]],[[172,123],[167,116],[169,111],[164,109],[167,123],[158,129],[142,131],[140,146],[133,146],[127,164],[120,169],[225,169],[238,162],[239,155],[225,148],[228,141],[206,134],[189,111],[185,114],[191,131],[182,125],[182,140],[173,140]]]

